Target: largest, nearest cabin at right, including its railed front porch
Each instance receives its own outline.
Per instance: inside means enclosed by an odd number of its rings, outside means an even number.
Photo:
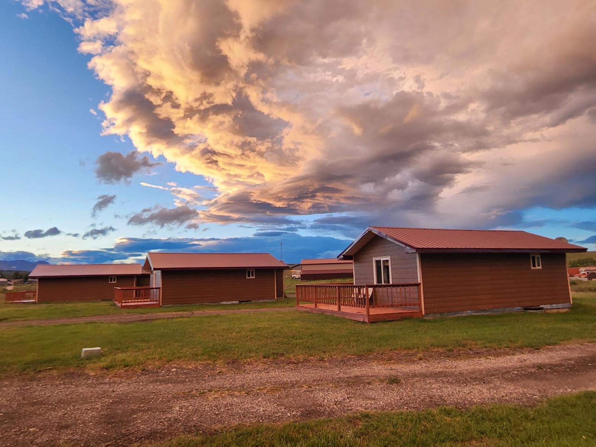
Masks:
[[[369,226],[338,256],[353,285],[297,285],[297,308],[365,322],[566,311],[566,253],[586,250],[525,231]]]

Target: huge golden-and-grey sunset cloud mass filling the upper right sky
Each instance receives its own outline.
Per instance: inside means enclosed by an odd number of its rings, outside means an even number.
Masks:
[[[596,206],[591,2],[95,4],[56,5],[111,88],[103,134],[211,182],[205,222],[485,228]],[[133,154],[98,178],[147,172]],[[333,225],[312,228],[355,231]]]

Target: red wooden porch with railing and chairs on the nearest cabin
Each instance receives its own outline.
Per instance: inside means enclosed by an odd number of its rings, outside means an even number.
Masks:
[[[367,323],[423,316],[420,283],[297,284],[296,308]]]

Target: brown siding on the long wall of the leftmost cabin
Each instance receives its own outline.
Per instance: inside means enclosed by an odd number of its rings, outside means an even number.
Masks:
[[[38,302],[113,300],[114,287],[134,287],[134,275],[116,277],[39,278]]]

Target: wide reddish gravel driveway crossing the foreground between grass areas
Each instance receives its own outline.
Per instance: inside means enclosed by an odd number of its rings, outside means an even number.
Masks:
[[[577,344],[4,378],[0,445],[128,445],[359,410],[529,404],[596,389],[595,366],[596,344]]]

